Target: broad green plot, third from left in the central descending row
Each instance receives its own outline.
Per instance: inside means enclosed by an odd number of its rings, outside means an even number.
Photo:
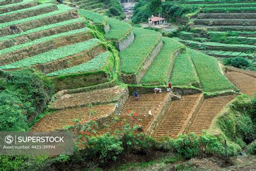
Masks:
[[[119,53],[121,71],[124,73],[136,73],[161,41],[161,35],[158,32],[133,28],[133,33],[135,35],[133,43]]]

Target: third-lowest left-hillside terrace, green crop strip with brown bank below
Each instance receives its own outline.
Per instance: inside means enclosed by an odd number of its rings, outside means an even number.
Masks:
[[[29,58],[36,54],[56,49],[60,46],[83,42],[84,40],[91,38],[92,35],[89,32],[89,29],[82,28],[79,30],[71,30],[57,35],[43,37],[25,44],[12,46],[0,50],[0,57],[2,59],[0,61],[0,65],[14,63],[15,61]]]

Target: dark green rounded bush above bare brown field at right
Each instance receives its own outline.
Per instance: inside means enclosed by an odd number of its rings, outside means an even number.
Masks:
[[[251,66],[250,60],[242,57],[227,58],[223,61],[223,64],[238,67],[239,69],[245,69]]]

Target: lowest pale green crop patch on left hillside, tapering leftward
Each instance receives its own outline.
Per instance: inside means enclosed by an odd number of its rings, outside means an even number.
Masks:
[[[46,74],[46,76],[51,77],[51,76],[59,76],[61,74],[68,74],[68,73],[96,71],[96,70],[102,69],[102,67],[104,67],[109,55],[110,55],[109,52],[104,52],[102,54],[99,54],[97,57],[87,61],[86,63],[80,64],[77,66],[73,66],[68,69],[52,72],[52,73]]]

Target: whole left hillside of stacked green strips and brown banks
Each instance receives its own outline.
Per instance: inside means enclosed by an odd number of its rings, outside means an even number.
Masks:
[[[107,81],[113,56],[76,9],[24,0],[2,4],[0,11],[0,69],[36,68],[52,78],[56,91],[86,86],[88,77],[89,86]]]

